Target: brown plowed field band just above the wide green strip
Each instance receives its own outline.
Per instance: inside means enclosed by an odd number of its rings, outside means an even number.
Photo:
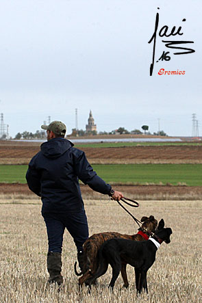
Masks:
[[[75,145],[76,147],[76,145]],[[90,163],[202,163],[202,146],[125,146],[81,148]],[[38,143],[0,142],[0,164],[29,163],[40,150]]]

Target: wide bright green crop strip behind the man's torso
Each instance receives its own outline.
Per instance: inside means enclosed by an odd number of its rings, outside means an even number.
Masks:
[[[94,170],[110,183],[202,185],[202,164],[110,164],[93,165]],[[0,182],[26,183],[27,166],[0,166]]]

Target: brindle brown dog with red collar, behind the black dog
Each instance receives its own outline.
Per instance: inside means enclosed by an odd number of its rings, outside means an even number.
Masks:
[[[79,285],[82,285],[84,282],[88,285],[88,279],[92,278],[92,275],[95,274],[98,267],[98,250],[104,241],[114,238],[122,238],[134,241],[144,241],[149,239],[151,233],[155,232],[157,228],[157,220],[150,215],[149,218],[142,217],[141,222],[143,222],[141,228],[139,228],[138,233],[136,235],[122,235],[121,233],[98,233],[92,235],[90,238],[86,240],[84,243],[84,265],[81,270],[81,273],[78,273],[76,270],[77,262],[75,263],[75,274],[77,276],[81,276],[79,278]],[[121,264],[121,275],[123,277],[124,287],[129,286],[129,282],[127,280],[127,273],[126,273],[126,265],[127,263]]]

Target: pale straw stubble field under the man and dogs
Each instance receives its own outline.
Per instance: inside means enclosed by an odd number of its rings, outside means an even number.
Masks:
[[[28,204],[29,202],[29,204]],[[133,234],[138,226],[116,202],[85,202],[90,235],[103,231]],[[201,201],[141,201],[131,212],[164,218],[173,229],[171,243],[157,251],[157,259],[148,272],[149,298],[142,293],[136,298],[134,269],[127,266],[129,289],[123,289],[121,276],[114,293],[108,289],[111,270],[99,278],[99,286],[88,293],[79,292],[73,264],[76,248],[65,232],[62,252],[64,287],[47,285],[47,235],[40,215],[40,200],[1,200],[1,272],[0,302],[201,302],[202,298],[202,228]]]

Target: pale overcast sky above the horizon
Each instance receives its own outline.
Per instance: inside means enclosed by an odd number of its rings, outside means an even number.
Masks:
[[[192,135],[192,114],[201,114],[200,0],[0,0],[0,113],[10,135],[35,132],[48,116],[66,123],[68,133],[85,129],[90,109],[98,131],[149,125],[168,135]],[[157,10],[160,8],[160,10]],[[183,36],[157,35],[182,27]],[[186,22],[182,20],[186,18]],[[196,52],[173,55],[161,40],[188,40]],[[185,70],[185,75],[158,75]]]

